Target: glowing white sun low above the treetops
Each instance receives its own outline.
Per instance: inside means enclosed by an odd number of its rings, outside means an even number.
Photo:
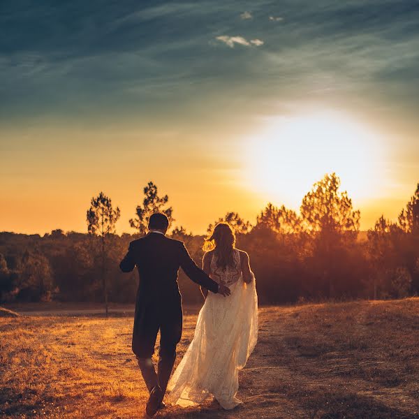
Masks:
[[[358,200],[375,195],[380,184],[379,135],[338,112],[269,119],[244,150],[247,188],[292,207],[327,172],[336,172],[342,188]]]

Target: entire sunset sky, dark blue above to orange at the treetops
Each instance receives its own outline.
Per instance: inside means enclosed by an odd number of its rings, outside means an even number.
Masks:
[[[119,233],[152,180],[175,224],[298,210],[326,172],[388,219],[419,182],[419,2],[0,3],[0,231]]]

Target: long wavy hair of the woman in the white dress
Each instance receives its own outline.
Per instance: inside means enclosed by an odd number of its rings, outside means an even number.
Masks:
[[[217,265],[223,270],[228,266],[234,266],[233,249],[235,249],[235,235],[228,223],[218,223],[214,227],[212,235],[205,240],[203,249],[214,250]]]

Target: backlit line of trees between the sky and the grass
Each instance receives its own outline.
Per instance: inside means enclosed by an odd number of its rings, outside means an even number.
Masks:
[[[43,237],[0,233],[0,301],[133,302],[136,272],[119,272],[128,243],[147,232],[149,215],[164,212],[170,236],[185,242],[200,265],[205,236],[174,226],[167,195],[149,182],[130,226],[115,233],[118,207],[103,192],[87,210],[87,233],[53,230]],[[255,225],[228,212],[226,221],[247,251],[256,274],[260,303],[304,300],[399,298],[419,292],[419,183],[397,221],[381,216],[366,235],[360,212],[340,190],[335,173],[325,175],[304,196],[300,212],[268,203]],[[186,304],[201,302],[198,287],[183,272],[179,286]]]

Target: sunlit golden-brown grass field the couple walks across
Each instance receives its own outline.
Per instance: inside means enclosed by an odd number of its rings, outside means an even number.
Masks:
[[[419,418],[419,299],[260,309],[240,375],[244,405],[168,407],[156,418]],[[132,316],[0,318],[0,415],[142,418]],[[193,336],[186,316],[179,357]]]

